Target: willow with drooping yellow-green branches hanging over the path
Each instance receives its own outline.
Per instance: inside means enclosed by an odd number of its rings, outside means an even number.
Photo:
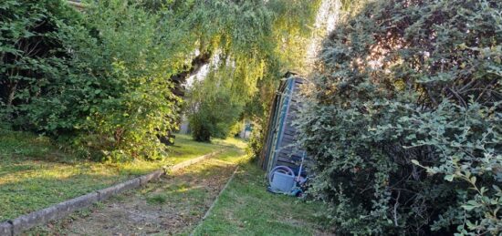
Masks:
[[[195,72],[193,68],[210,61],[201,58],[217,55],[219,59],[213,61],[210,69],[216,74],[225,70],[219,75],[231,83],[225,83],[229,87],[215,89],[228,90],[231,106],[246,105],[245,115],[261,122],[281,73],[303,66],[311,31],[309,26],[319,1],[194,1],[191,5],[178,6],[191,12],[186,15],[185,22],[192,30],[193,50],[199,53],[193,56],[193,62],[198,63],[192,63],[190,71]],[[221,76],[223,74],[225,76]],[[185,78],[190,73],[183,72],[182,76]],[[214,87],[210,85],[214,81],[221,82],[220,79],[210,79],[204,84]],[[201,86],[197,89],[204,90]],[[200,92],[191,93],[191,97],[192,102],[199,103],[201,108],[193,115],[204,112],[204,107],[211,107],[204,103],[218,100]],[[201,117],[207,116],[198,114],[197,118]],[[236,121],[235,116],[229,117]]]

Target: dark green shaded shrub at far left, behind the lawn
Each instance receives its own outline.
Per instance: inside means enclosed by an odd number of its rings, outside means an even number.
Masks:
[[[45,126],[42,101],[61,104],[52,89],[68,77],[68,34],[61,28],[78,21],[63,1],[2,1],[0,4],[0,118],[22,128]],[[59,112],[58,108],[54,112]],[[60,124],[65,126],[66,124]]]

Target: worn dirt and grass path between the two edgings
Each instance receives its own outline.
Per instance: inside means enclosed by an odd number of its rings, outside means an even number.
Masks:
[[[26,234],[189,234],[234,169],[231,162],[208,159]]]

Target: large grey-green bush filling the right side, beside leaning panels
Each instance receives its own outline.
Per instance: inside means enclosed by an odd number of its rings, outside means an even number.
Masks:
[[[325,40],[298,127],[340,235],[502,233],[501,11],[380,0]]]

